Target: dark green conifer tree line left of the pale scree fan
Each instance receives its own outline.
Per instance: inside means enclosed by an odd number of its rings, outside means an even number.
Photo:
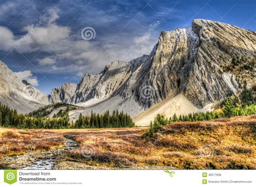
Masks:
[[[56,108],[56,107],[55,107]],[[39,109],[29,114],[19,114],[17,110],[10,109],[0,102],[0,126],[14,128],[111,128],[111,127],[133,127],[131,117],[127,113],[113,111],[112,115],[106,111],[104,115],[91,112],[91,116],[82,116],[80,114],[75,123],[69,119],[67,107],[66,110],[59,110],[52,118],[46,110]],[[45,116],[44,116],[45,114]],[[42,116],[41,116],[42,115]]]

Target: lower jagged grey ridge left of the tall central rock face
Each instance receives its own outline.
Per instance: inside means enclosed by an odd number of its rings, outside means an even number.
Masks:
[[[78,104],[90,99],[109,98],[127,87],[126,82],[132,80],[138,67],[147,59],[148,56],[144,55],[131,62],[113,61],[100,74],[85,74],[79,84],[63,84],[62,87],[52,89],[50,103]]]

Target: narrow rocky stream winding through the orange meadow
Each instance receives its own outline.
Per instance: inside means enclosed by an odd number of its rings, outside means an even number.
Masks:
[[[79,146],[79,143],[75,140],[65,138],[65,147],[57,149],[57,153],[60,154],[63,150],[75,150]],[[55,150],[56,151],[56,150]],[[23,169],[52,169],[54,164],[56,163],[56,156],[52,154],[46,154],[41,158],[37,159],[31,166],[27,166]]]

